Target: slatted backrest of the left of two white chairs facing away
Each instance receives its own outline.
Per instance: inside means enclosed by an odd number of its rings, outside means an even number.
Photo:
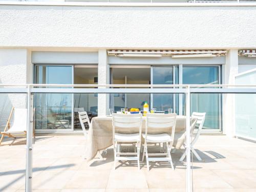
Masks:
[[[118,132],[126,132],[133,129],[133,133],[139,133],[141,135],[142,127],[142,114],[112,114],[113,125],[113,139],[115,138],[116,128]]]

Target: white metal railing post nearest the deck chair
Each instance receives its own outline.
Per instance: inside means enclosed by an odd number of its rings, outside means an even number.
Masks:
[[[27,150],[26,150],[26,192],[32,191],[32,150],[33,150],[33,93],[30,92],[28,85],[27,103]]]

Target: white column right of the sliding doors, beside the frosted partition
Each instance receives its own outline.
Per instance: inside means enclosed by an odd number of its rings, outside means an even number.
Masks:
[[[231,49],[226,55],[226,65],[223,70],[223,84],[235,84],[234,75],[238,74],[238,50]],[[236,128],[234,94],[223,96],[223,133],[233,137]]]

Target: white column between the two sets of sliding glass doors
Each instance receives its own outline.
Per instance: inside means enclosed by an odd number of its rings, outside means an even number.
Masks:
[[[108,55],[105,49],[100,49],[98,52],[98,84],[109,83],[109,65]],[[103,87],[104,88],[104,87]],[[109,102],[109,94],[98,94],[98,116],[107,114]]]

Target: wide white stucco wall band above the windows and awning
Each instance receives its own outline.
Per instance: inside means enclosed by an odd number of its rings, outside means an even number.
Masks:
[[[0,47],[256,47],[255,6],[0,5]]]

